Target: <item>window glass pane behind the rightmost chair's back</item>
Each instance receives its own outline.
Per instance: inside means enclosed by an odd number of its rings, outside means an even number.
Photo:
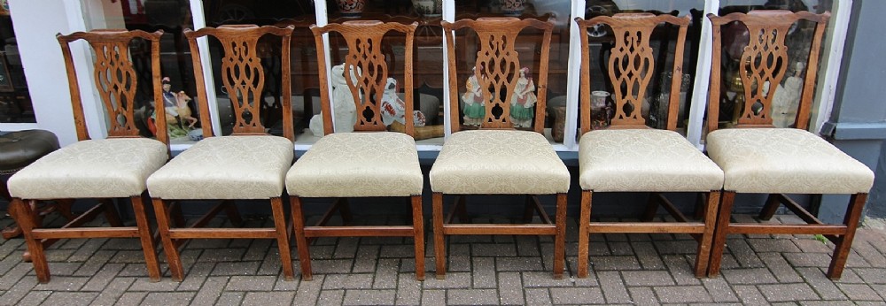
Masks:
[[[751,1],[751,0],[723,0],[720,2],[719,15],[724,16],[732,12],[749,12],[755,10],[788,10],[788,11],[812,11],[816,13],[830,11],[833,8],[833,1],[830,0],[767,0],[767,1]],[[833,18],[833,16],[832,16]],[[785,45],[787,46],[787,65],[785,67],[785,75],[781,82],[775,87],[765,89],[766,94],[772,92],[772,119],[773,125],[778,127],[793,126],[796,121],[797,107],[802,93],[804,77],[806,72],[806,63],[809,60],[809,52],[812,44],[812,34],[815,31],[815,23],[800,20],[789,28],[785,37]],[[722,31],[722,48],[723,61],[720,65],[721,69],[721,94],[719,101],[719,126],[731,126],[736,123],[743,110],[745,103],[744,88],[747,84],[743,84],[741,73],[742,66],[740,57],[741,50],[748,45],[748,41],[753,38],[748,33],[748,28],[741,23],[734,22],[727,24],[721,28]],[[831,28],[825,28],[825,41],[830,34]],[[816,67],[819,69],[818,80],[823,75],[825,65]],[[747,69],[747,68],[745,68]],[[758,84],[750,84],[752,88],[757,88]],[[768,83],[766,83],[768,86]],[[762,104],[760,104],[762,105]],[[752,109],[752,111],[757,110]],[[812,109],[815,111],[815,108]]]

